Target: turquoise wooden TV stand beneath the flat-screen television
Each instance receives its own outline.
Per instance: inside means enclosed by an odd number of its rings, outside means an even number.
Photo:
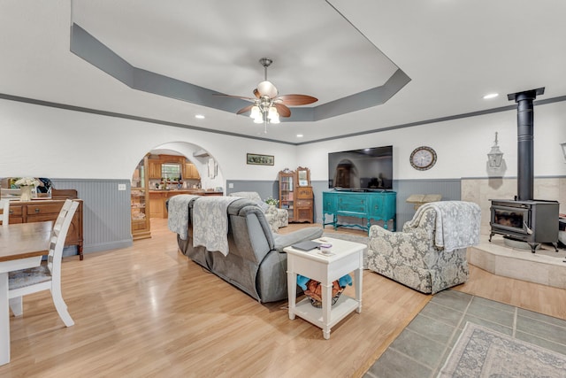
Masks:
[[[384,228],[387,222],[393,220],[393,230],[396,228],[397,193],[394,191],[324,191],[322,193],[322,227],[333,225],[333,228],[356,227],[365,231],[370,230],[371,220],[383,220]],[[333,221],[325,223],[325,215],[333,216]],[[340,224],[338,217],[356,217],[367,220],[367,226],[357,224]]]

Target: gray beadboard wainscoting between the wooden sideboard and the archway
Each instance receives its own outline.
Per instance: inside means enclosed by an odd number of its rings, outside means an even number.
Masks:
[[[56,189],[76,189],[83,200],[83,252],[132,245],[130,181],[50,179]],[[125,184],[126,190],[119,190]]]

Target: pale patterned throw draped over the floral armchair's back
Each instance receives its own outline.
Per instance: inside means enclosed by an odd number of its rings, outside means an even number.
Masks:
[[[416,227],[428,209],[436,211],[434,244],[445,251],[454,251],[479,243],[481,210],[478,204],[465,201],[440,201],[418,208],[410,225]]]

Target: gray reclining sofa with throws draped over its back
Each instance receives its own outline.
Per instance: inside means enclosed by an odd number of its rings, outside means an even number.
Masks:
[[[238,198],[227,206],[229,251],[225,256],[219,251],[208,251],[204,246],[193,245],[193,212],[195,202],[200,198],[186,198],[188,234],[186,239],[181,238],[179,233],[177,235],[180,251],[261,303],[286,299],[287,253],[283,248],[316,239],[322,235],[322,228],[302,228],[287,235],[274,234],[262,209],[254,201]],[[172,214],[179,212],[174,210],[177,207],[169,202],[167,204],[170,228],[172,219],[178,218],[179,214]]]

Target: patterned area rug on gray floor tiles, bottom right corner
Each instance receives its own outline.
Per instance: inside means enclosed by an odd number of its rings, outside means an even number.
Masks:
[[[566,356],[467,322],[439,378],[564,377]]]

